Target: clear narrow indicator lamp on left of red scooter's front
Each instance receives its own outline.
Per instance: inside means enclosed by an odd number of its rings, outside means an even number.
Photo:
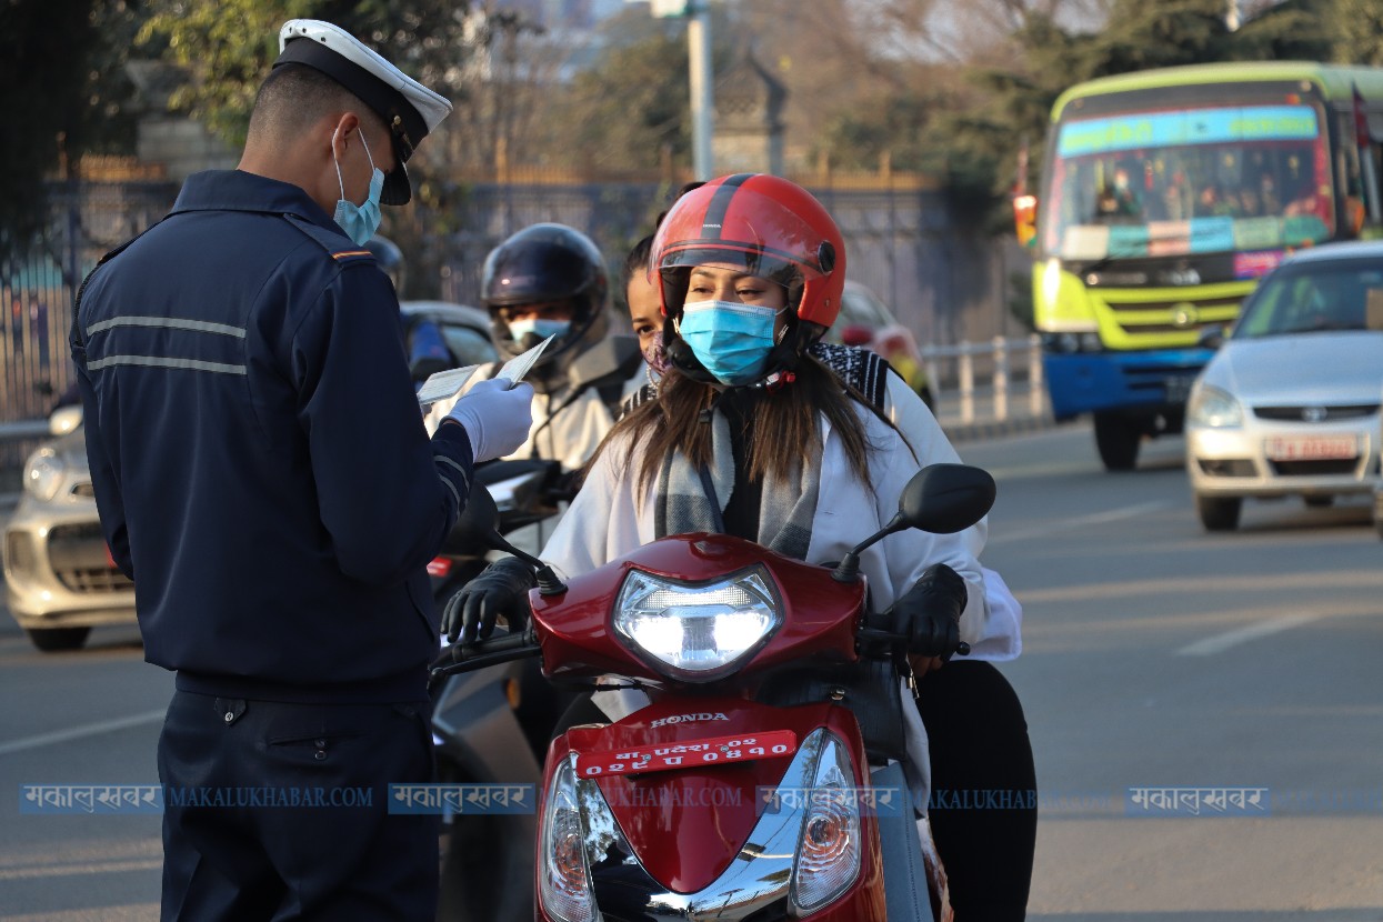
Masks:
[[[542,867],[538,899],[559,922],[600,922],[591,893],[585,832],[577,800],[577,775],[571,759],[563,759],[552,775],[542,824]]]

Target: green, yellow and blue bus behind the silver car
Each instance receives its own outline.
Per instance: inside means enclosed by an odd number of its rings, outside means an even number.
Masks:
[[[1181,431],[1207,343],[1264,272],[1376,229],[1376,138],[1375,68],[1166,68],[1057,100],[1039,195],[1014,209],[1052,413],[1093,413],[1106,469]]]

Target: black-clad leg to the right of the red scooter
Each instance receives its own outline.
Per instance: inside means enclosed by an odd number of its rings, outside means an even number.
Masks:
[[[1028,722],[987,662],[953,659],[918,681],[932,753],[932,834],[956,922],[1028,912],[1037,845],[1037,773]]]

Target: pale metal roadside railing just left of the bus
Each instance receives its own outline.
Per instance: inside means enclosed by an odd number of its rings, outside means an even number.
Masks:
[[[986,419],[1004,422],[1015,416],[1041,416],[1047,393],[1041,370],[1041,340],[1033,333],[1025,339],[996,336],[987,343],[961,341],[956,346],[928,346],[921,350],[932,397],[940,406],[943,397],[956,391],[961,423],[979,419],[979,404],[987,398],[992,413]],[[1015,361],[1017,359],[1017,361]],[[943,368],[953,375],[943,375]],[[978,368],[976,368],[978,366]],[[987,384],[976,384],[978,377]],[[947,388],[945,383],[950,383]],[[1015,398],[1025,398],[1018,404]]]

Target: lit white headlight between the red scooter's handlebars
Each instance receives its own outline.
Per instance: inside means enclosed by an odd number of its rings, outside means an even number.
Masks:
[[[614,630],[672,679],[711,681],[752,655],[783,622],[762,564],[707,583],[629,571]]]

